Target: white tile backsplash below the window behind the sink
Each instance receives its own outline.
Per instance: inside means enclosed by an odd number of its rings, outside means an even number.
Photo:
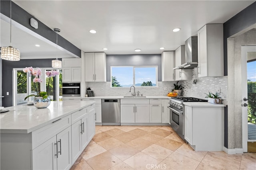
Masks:
[[[139,90],[143,96],[166,96],[174,88],[174,83],[158,82],[158,87],[136,87],[136,95]],[[86,88],[93,88],[95,96],[131,96],[131,92],[133,92],[133,88],[129,92],[130,87],[111,88],[110,85],[111,82],[86,82]],[[167,90],[164,90],[164,87],[167,87]],[[103,91],[101,91],[101,88],[103,88]],[[82,96],[85,96],[85,94],[82,94]]]

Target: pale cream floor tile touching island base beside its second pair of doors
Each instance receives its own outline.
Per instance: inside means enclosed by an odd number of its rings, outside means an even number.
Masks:
[[[98,145],[97,143],[94,143],[90,146],[87,146],[84,151],[82,152],[81,156],[84,160],[92,158],[93,156],[96,156],[98,154],[101,154],[103,152],[106,152],[107,150]]]

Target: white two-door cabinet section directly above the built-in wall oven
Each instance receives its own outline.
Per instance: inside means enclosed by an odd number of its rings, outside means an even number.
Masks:
[[[63,67],[62,82],[81,82],[81,67]]]

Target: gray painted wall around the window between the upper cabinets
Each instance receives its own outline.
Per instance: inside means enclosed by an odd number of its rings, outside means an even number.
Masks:
[[[107,55],[107,82],[110,66],[158,66],[158,81],[162,81],[161,54]]]

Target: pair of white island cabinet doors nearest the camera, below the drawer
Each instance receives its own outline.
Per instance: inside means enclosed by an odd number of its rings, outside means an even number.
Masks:
[[[72,166],[71,127],[58,133],[48,141],[32,150],[33,169],[66,170]]]

